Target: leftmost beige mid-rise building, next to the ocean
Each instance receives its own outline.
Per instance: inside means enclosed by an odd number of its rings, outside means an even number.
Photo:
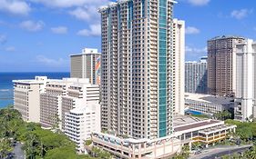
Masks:
[[[14,80],[14,108],[27,122],[39,122],[40,94],[44,93],[49,80],[46,76],[36,76],[33,80]]]

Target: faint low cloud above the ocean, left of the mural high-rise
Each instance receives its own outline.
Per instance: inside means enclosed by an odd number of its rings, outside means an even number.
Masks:
[[[52,58],[48,58],[44,55],[37,55],[36,62],[39,62],[39,63],[41,63],[43,65],[47,65],[47,66],[62,66],[62,65],[67,64],[67,60],[64,60],[63,58],[52,59]]]

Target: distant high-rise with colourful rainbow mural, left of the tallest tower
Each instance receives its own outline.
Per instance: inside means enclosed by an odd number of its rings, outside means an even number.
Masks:
[[[100,84],[100,53],[85,48],[82,54],[70,55],[71,78],[88,78],[91,84]]]

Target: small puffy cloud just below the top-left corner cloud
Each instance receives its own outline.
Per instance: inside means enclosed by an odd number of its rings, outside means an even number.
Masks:
[[[31,20],[27,20],[24,21],[20,24],[20,27],[22,27],[23,29],[26,29],[29,32],[37,32],[43,29],[44,27],[44,22],[43,21],[31,21]]]

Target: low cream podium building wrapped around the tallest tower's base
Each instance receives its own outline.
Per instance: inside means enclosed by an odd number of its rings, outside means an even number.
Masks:
[[[236,125],[223,121],[203,119],[188,115],[176,115],[174,133],[158,139],[135,139],[117,134],[93,133],[93,145],[121,158],[168,158],[181,151],[182,145],[194,142],[204,143],[207,147],[235,132]]]

